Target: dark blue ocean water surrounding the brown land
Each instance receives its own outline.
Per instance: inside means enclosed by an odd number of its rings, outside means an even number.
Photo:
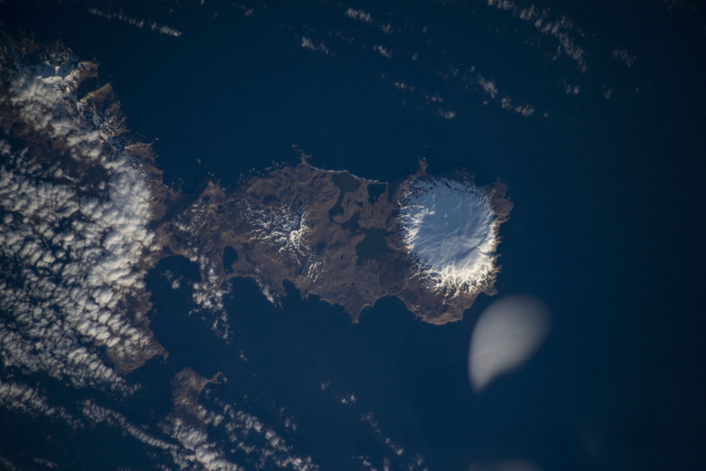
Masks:
[[[293,290],[275,307],[237,279],[226,299],[233,340],[222,343],[188,314],[188,288],[175,293],[162,276],[198,272],[167,259],[148,285],[152,330],[169,357],[132,374],[150,387],[124,406],[127,416],[164,417],[168,381],[189,367],[222,372],[228,382],[209,386],[212,394],[260,417],[286,409],[299,425],[296,451],[322,469],[386,456],[360,420],[367,412],[433,470],[502,459],[545,471],[706,464],[702,9],[669,16],[659,2],[544,3],[598,38],[582,74],[532,62],[527,32],[484,2],[351,5],[400,25],[388,39],[391,61],[359,46],[384,37],[334,14],[341,5],[253,4],[246,17],[207,2],[214,18],[195,2],[174,12],[156,4],[128,2],[125,11],[175,26],[181,37],[105,21],[84,4],[45,4],[41,18],[13,5],[17,20],[3,21],[41,41],[62,37],[100,62],[129,127],[154,143],[165,183],[185,193],[205,178],[235,186],[252,169],[295,163],[292,145],[316,167],[381,181],[405,178],[420,158],[431,173],[467,169],[481,185],[501,178],[515,206],[500,229],[498,292],[537,296],[553,328],[525,368],[477,394],[466,359],[488,296],[447,326],[424,324],[395,299],[352,324],[341,308]],[[422,25],[436,36],[417,44],[406,32]],[[355,41],[335,43],[328,31]],[[335,55],[302,47],[303,35],[336,44]],[[613,44],[628,46],[633,66],[618,70],[610,54],[603,58]],[[394,60],[415,51],[418,61]],[[477,89],[443,78],[444,64],[488,70],[537,112],[484,104]],[[582,93],[550,92],[562,79]],[[402,103],[391,85],[401,80],[443,95],[454,119],[423,98]],[[623,93],[603,99],[609,85]],[[342,408],[351,393],[356,404]]]

